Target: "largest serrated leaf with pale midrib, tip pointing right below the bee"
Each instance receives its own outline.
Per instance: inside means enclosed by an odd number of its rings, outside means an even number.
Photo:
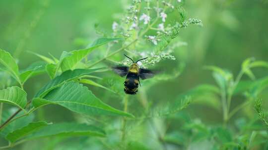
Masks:
[[[57,104],[70,111],[84,114],[123,115],[133,117],[132,114],[114,109],[98,99],[87,87],[82,84],[67,82],[63,86],[48,93],[43,99],[33,99],[35,108]]]

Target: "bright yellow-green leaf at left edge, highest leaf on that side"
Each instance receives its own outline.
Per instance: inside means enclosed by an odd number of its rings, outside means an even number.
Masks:
[[[0,64],[2,64],[6,71],[12,75],[13,78],[15,78],[19,83],[21,83],[19,79],[19,71],[18,71],[18,65],[14,58],[6,51],[0,49]]]

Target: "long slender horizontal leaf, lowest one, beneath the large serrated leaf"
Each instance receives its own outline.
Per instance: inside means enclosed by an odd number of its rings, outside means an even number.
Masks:
[[[43,127],[26,137],[36,139],[51,136],[98,136],[105,137],[105,132],[95,126],[78,123],[57,123]]]

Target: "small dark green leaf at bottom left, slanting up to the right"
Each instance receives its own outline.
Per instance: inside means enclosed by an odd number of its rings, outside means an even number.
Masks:
[[[49,125],[49,124],[45,121],[31,122],[27,126],[24,126],[20,129],[17,129],[15,131],[8,133],[5,138],[8,141],[10,141],[11,143],[14,143],[17,140],[21,139],[22,137],[25,137],[25,136],[33,133],[34,131],[37,131],[38,129],[40,129],[44,126],[47,126],[47,125]]]

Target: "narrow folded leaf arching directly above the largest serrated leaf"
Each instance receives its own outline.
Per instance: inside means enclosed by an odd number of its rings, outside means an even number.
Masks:
[[[57,76],[56,78],[54,78],[50,82],[48,82],[44,87],[42,87],[37,92],[35,97],[43,98],[51,90],[63,85],[67,81],[78,79],[78,77],[81,75],[87,75],[87,74],[93,73],[99,69],[76,69],[74,71],[70,71],[70,70],[66,71],[62,75]]]

